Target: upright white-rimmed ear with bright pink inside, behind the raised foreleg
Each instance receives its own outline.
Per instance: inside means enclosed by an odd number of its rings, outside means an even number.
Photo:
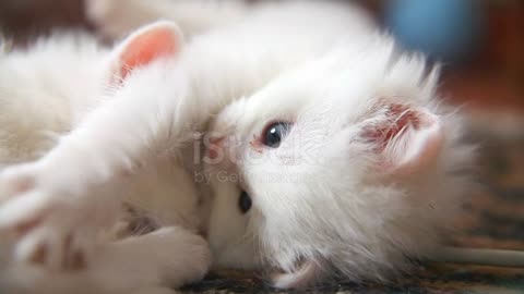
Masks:
[[[114,81],[124,79],[136,68],[158,58],[176,54],[182,44],[182,33],[172,22],[160,21],[139,28],[117,46],[110,57]]]

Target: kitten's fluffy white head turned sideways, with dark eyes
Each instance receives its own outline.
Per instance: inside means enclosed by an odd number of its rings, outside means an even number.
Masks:
[[[472,150],[437,98],[438,71],[380,39],[293,69],[214,120],[218,264],[269,265],[278,286],[322,271],[382,279],[449,228]]]

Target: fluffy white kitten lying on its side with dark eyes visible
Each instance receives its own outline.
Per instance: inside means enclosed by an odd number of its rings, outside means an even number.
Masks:
[[[167,159],[180,174],[200,172],[187,163],[200,159],[194,132],[209,148],[213,206],[204,229],[217,265],[264,266],[282,272],[275,284],[286,287],[327,272],[380,279],[402,269],[405,256],[431,250],[467,186],[462,170],[471,161],[461,123],[437,105],[438,73],[426,76],[421,58],[395,53],[354,8],[230,9],[243,12],[222,17],[223,26],[205,7],[191,13],[191,23],[212,27],[186,46],[163,22],[92,63],[99,71],[93,81],[103,81],[95,85],[106,85],[94,87],[88,101],[96,102],[80,103],[85,115],[70,120],[72,131],[48,154],[1,174],[0,225],[17,232],[16,265],[40,264],[38,277],[48,277],[86,264],[81,279],[105,269],[95,281],[109,292],[199,279],[206,259],[186,258],[205,250],[184,230],[94,238],[118,220],[136,174]],[[186,191],[172,196],[199,198]],[[134,271],[141,262],[146,270]],[[61,290],[71,283],[63,274],[21,283]]]

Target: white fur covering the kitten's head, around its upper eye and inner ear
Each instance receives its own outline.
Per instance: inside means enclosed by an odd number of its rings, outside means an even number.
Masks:
[[[472,149],[458,140],[456,117],[438,106],[436,81],[425,78],[424,60],[397,58],[382,39],[364,46],[366,51],[333,52],[274,79],[214,122],[215,134],[238,140],[240,159],[233,168],[228,160],[226,167],[212,166],[213,179],[223,169],[243,179],[212,180],[215,196],[231,185],[252,196],[245,232],[260,243],[260,258],[297,271],[295,280],[284,275],[276,285],[302,285],[303,261],[356,280],[402,271],[405,256],[425,257],[439,245],[468,187],[463,169]],[[385,119],[367,114],[373,105],[398,102],[438,115],[445,134],[436,160],[405,177],[378,170],[384,159],[361,135],[365,126]],[[274,121],[295,124],[278,149],[259,154],[250,142]],[[404,148],[392,152],[405,156]]]

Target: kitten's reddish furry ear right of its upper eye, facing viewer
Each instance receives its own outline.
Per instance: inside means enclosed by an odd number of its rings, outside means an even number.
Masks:
[[[432,163],[440,155],[443,132],[440,119],[427,109],[386,105],[384,120],[367,126],[364,136],[374,145],[379,169],[410,174]]]

